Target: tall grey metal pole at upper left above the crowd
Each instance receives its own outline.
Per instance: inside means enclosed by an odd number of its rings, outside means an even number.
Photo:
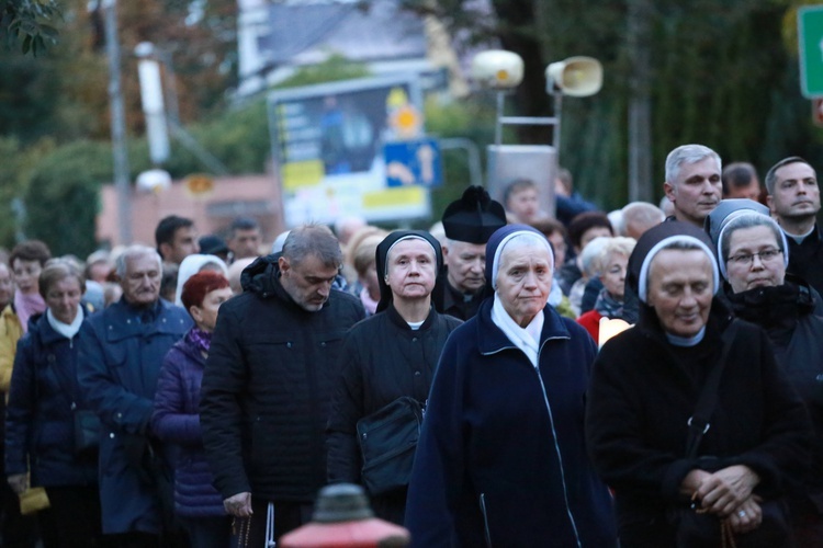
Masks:
[[[126,148],[126,114],[120,77],[120,38],[117,37],[117,0],[104,0],[105,52],[109,56],[109,102],[112,110],[112,157],[114,187],[117,191],[120,243],[132,243],[132,204]]]

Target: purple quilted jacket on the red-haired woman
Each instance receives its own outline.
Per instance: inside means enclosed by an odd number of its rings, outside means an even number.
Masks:
[[[181,516],[225,515],[223,496],[212,486],[200,431],[200,385],[205,358],[191,339],[178,341],[160,369],[151,431],[177,449],[174,512]]]

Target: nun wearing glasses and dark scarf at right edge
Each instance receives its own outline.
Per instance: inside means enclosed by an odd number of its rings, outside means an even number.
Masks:
[[[707,218],[725,298],[737,318],[760,326],[778,363],[805,402],[814,425],[811,475],[790,499],[799,546],[823,546],[823,316],[820,295],[786,272],[786,236],[769,210],[751,199],[725,199]],[[816,310],[815,310],[816,309]]]

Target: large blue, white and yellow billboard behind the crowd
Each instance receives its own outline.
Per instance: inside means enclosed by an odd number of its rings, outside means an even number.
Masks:
[[[268,96],[272,152],[288,227],[428,217],[425,185],[390,186],[383,147],[422,130],[414,76],[367,78],[273,91]]]

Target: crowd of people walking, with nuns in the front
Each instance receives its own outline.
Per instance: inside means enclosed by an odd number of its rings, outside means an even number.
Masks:
[[[519,179],[429,230],[24,241],[0,546],[264,546],[337,482],[415,547],[823,546],[820,191],[764,181],[684,145],[609,213],[561,170],[553,216]]]

